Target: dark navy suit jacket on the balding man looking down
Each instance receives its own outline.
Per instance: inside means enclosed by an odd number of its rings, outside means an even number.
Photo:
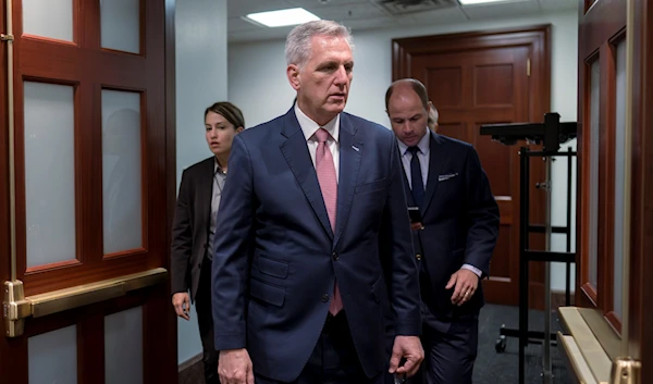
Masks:
[[[467,143],[428,131],[430,160],[424,201],[419,207],[423,230],[412,232],[417,253],[422,255],[432,295],[422,300],[438,318],[478,313],[483,306],[482,285],[472,298],[457,307],[453,288],[444,287],[463,264],[490,274],[490,258],[498,235],[498,207],[481,168],[477,151]],[[507,172],[507,170],[506,170]],[[408,179],[404,178],[409,207],[414,207]]]

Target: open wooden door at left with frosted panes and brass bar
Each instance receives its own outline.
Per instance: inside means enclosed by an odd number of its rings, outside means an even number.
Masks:
[[[176,383],[174,1],[1,5],[0,377]]]

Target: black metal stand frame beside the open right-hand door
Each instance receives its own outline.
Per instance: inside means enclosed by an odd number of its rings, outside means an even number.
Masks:
[[[566,264],[565,305],[571,302],[570,277],[571,263],[576,261],[576,252],[571,251],[571,169],[572,158],[577,154],[570,149],[558,152],[559,143],[565,143],[576,136],[576,123],[559,123],[557,113],[547,113],[544,124],[508,124],[508,125],[483,125],[481,135],[492,135],[493,139],[506,145],[514,145],[518,139],[527,139],[535,143],[544,143],[543,151],[531,151],[528,147],[521,147],[520,156],[520,184],[519,184],[519,329],[506,329],[505,324],[500,330],[495,349],[503,352],[506,348],[506,337],[519,338],[519,384],[525,384],[526,374],[526,347],[528,344],[543,344],[543,372],[544,384],[551,384],[553,371],[551,364],[551,346],[556,345],[556,334],[551,332],[551,262],[564,262]],[[565,226],[551,225],[551,164],[557,157],[567,158],[567,220]],[[546,181],[535,185],[546,193],[546,222],[544,224],[530,223],[530,159],[542,158],[546,162]],[[546,250],[531,250],[529,248],[529,235],[531,233],[544,233],[546,237]],[[551,235],[566,235],[566,252],[551,251]],[[529,267],[531,261],[543,261],[545,263],[544,293],[545,293],[545,322],[544,331],[529,331]]]

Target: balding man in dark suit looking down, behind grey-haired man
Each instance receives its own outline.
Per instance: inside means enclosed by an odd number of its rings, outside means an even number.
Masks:
[[[483,306],[480,280],[490,273],[498,207],[473,147],[428,129],[423,84],[393,83],[385,107],[398,139],[408,207],[415,209],[426,351],[422,377],[415,381],[470,384]]]

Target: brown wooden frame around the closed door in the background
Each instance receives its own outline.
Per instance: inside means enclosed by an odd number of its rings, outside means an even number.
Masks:
[[[433,45],[436,45],[435,47]],[[551,108],[551,25],[533,25],[516,28],[501,28],[478,32],[467,32],[446,35],[419,36],[392,40],[392,80],[412,77],[410,62],[412,55],[452,53],[470,50],[528,47],[530,58],[528,121],[541,122],[544,114]],[[545,177],[544,164],[531,166],[531,179],[543,181]],[[532,184],[532,183],[531,183]],[[510,186],[512,196],[516,205],[519,205],[519,184]],[[541,194],[540,194],[541,195]],[[542,198],[542,203],[538,203]],[[530,221],[544,222],[545,211],[544,196],[537,195],[534,188],[530,191]],[[510,236],[519,238],[519,214],[513,212],[513,228]],[[544,246],[544,237],[531,235],[531,245]],[[541,238],[540,238],[541,237]],[[510,244],[514,255],[519,255],[518,241]],[[515,286],[519,284],[519,262],[510,264],[510,275],[515,276]],[[529,302],[532,308],[544,308],[544,268],[542,263],[530,265]],[[507,295],[514,297],[510,302],[518,302],[518,292],[509,292]],[[564,294],[562,294],[564,297]],[[559,299],[557,300],[559,301]],[[564,301],[564,300],[563,300]]]

